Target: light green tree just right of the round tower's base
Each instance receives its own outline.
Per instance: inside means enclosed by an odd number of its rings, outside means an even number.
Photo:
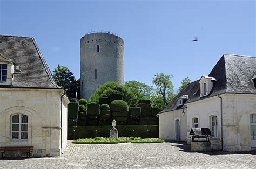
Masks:
[[[137,101],[140,99],[150,99],[154,90],[152,86],[146,85],[145,83],[136,80],[126,81],[124,86],[129,88],[132,93],[136,94]]]

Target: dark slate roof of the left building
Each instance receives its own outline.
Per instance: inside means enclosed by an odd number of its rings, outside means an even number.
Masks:
[[[0,35],[0,54],[14,60],[20,66],[21,74],[15,74],[11,86],[26,88],[62,89],[52,78],[36,41],[32,37]]]

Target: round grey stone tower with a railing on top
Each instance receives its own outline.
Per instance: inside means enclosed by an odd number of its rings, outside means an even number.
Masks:
[[[80,39],[80,95],[89,100],[105,82],[124,83],[124,41],[108,31],[93,31]]]

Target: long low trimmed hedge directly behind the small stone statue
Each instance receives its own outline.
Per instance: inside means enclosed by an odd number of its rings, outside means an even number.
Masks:
[[[117,123],[118,124],[118,123]],[[141,138],[159,138],[159,126],[158,125],[117,125],[118,137],[141,137]],[[95,138],[109,137],[112,125],[103,126],[77,126],[70,128],[68,131],[68,139],[73,139],[73,130],[75,130],[75,139],[79,138]],[[125,129],[126,135],[125,135]],[[97,136],[96,136],[97,130]],[[134,131],[133,131],[134,130]],[[149,131],[147,131],[149,130]]]

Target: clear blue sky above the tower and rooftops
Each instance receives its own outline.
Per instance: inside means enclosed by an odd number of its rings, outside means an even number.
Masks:
[[[35,37],[51,71],[80,76],[80,38],[107,30],[124,39],[125,81],[152,85],[208,75],[224,53],[255,56],[255,1],[0,0],[0,34]],[[193,43],[194,36],[198,41]]]

